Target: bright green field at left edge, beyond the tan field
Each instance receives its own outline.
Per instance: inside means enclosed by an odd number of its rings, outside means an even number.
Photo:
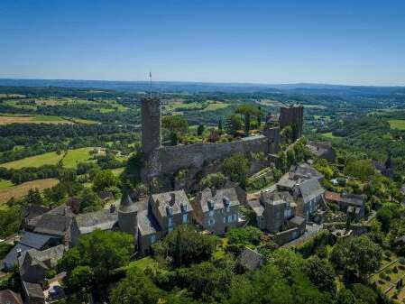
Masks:
[[[80,148],[69,150],[63,159],[63,164],[67,168],[76,168],[78,162],[87,161],[92,148]],[[23,160],[10,161],[0,164],[0,167],[7,169],[21,169],[23,167],[41,167],[43,165],[56,165],[63,158],[63,152],[58,155],[56,152],[48,152],[24,158]]]

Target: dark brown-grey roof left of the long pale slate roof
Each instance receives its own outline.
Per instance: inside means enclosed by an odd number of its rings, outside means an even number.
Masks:
[[[64,236],[72,221],[71,216],[44,214],[35,225],[34,232],[44,235]]]

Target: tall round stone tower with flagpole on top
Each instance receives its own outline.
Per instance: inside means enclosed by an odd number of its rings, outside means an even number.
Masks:
[[[145,97],[142,101],[142,151],[149,154],[161,147],[161,100]]]

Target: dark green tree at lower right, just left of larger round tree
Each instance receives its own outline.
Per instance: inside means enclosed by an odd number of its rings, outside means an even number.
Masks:
[[[306,261],[305,271],[310,281],[312,281],[321,291],[327,291],[331,294],[336,292],[335,270],[331,263],[325,259],[319,259],[318,256],[310,257]]]

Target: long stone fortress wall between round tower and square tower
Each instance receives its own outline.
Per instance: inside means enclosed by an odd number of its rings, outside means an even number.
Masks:
[[[230,143],[194,143],[161,147],[153,151],[148,161],[149,177],[177,170],[202,168],[205,161],[224,159],[236,152],[269,152],[269,140],[264,135],[246,137]]]

